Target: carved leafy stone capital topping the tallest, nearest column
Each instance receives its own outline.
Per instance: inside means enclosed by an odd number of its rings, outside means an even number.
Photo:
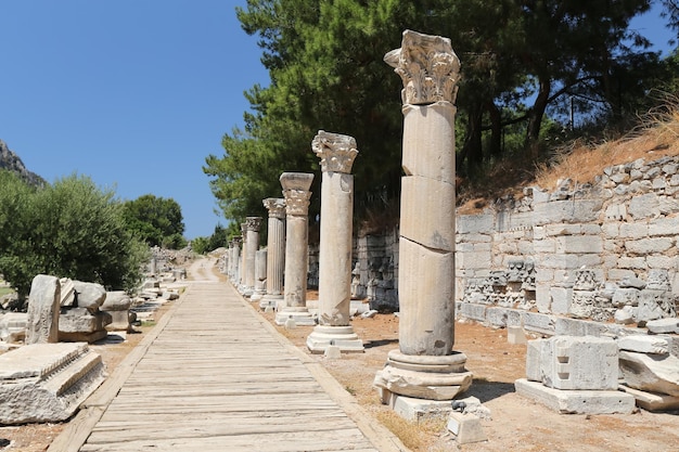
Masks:
[[[449,38],[403,31],[401,48],[384,61],[403,80],[403,104],[454,103],[460,79],[460,60]]]

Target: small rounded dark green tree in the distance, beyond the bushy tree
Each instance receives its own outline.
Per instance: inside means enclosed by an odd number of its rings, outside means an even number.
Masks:
[[[129,228],[150,246],[179,249],[187,245],[181,207],[172,198],[142,195],[124,205]]]

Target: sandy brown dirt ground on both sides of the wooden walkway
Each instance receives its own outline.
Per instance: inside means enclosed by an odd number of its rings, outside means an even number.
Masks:
[[[313,295],[311,293],[310,297]],[[157,312],[157,319],[168,305]],[[272,313],[261,315],[273,323]],[[679,413],[641,410],[629,415],[560,415],[517,396],[513,383],[525,376],[526,346],[508,344],[504,330],[476,323],[456,324],[454,348],[467,356],[467,370],[474,373],[474,383],[466,395],[477,397],[491,412],[491,419],[482,421],[489,440],[458,445],[447,431],[445,421],[420,425],[406,422],[380,403],[372,387],[375,372],[384,366],[387,352],[398,347],[398,318],[393,314],[355,318],[353,326],[363,340],[364,353],[343,354],[340,360],[312,357],[376,422],[392,429],[413,451],[679,451]],[[102,354],[107,369],[113,369],[151,328],[152,325],[140,327],[141,333],[128,334],[125,343],[93,345],[92,348]],[[308,353],[305,343],[312,327],[277,328]],[[63,427],[64,424],[0,426],[0,451],[44,451]]]

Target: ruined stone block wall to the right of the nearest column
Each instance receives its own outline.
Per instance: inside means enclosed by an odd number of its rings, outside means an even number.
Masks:
[[[512,322],[507,309],[620,324],[677,317],[678,193],[679,158],[640,159],[594,184],[568,179],[458,216],[459,313],[494,324]]]

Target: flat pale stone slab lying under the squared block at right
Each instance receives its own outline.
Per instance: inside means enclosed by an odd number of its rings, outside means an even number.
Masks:
[[[516,393],[562,414],[630,414],[635,398],[618,390],[562,390],[517,379]]]

